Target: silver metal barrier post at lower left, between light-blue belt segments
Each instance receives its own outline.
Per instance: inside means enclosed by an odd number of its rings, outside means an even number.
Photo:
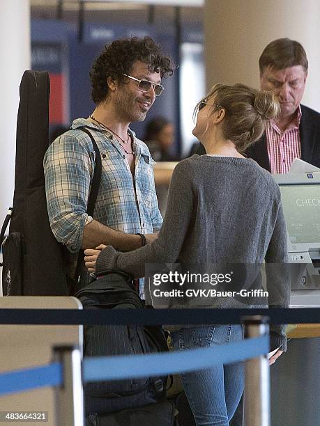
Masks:
[[[84,426],[82,357],[78,346],[55,346],[54,360],[62,364],[63,384],[56,388],[56,425]]]

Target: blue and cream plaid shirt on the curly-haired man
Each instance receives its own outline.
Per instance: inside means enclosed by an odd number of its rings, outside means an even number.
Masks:
[[[71,253],[81,248],[95,165],[91,139],[79,130],[81,127],[91,131],[102,157],[100,190],[93,218],[105,226],[132,234],[158,232],[162,216],[155,194],[154,161],[146,145],[131,132],[135,151],[135,175],[132,176],[112,134],[90,120],[79,118],[49,146],[44,159],[47,209],[56,239]]]

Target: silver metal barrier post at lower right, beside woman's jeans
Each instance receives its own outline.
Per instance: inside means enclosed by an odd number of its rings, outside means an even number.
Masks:
[[[245,338],[264,336],[269,332],[268,317],[244,317]],[[270,374],[266,355],[245,362],[245,426],[270,426]]]

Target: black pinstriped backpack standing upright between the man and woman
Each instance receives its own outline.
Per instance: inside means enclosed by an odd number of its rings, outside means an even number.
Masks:
[[[121,271],[110,271],[79,290],[75,297],[85,309],[144,309],[144,303],[132,284],[132,277]],[[160,326],[84,326],[86,357],[149,354],[167,350],[167,339]],[[160,402],[165,400],[166,384],[167,377],[136,377],[86,384],[86,413],[105,414]]]

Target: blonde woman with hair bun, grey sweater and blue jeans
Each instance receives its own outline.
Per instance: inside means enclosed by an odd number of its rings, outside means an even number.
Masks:
[[[284,264],[287,242],[280,191],[270,173],[242,155],[279,111],[270,91],[243,84],[213,86],[195,108],[193,134],[206,155],[176,166],[158,239],[130,253],[117,253],[112,246],[86,250],[89,271],[116,268],[142,277],[144,264],[155,262],[261,264],[265,259]],[[286,306],[287,281],[280,294],[277,304]],[[226,303],[229,308],[243,307],[236,299]],[[213,301],[212,308],[220,307],[223,304]],[[241,341],[243,330],[240,325],[185,326],[172,338],[176,349],[184,350]],[[280,326],[271,331],[271,349],[278,347],[277,356],[287,348]],[[243,393],[241,363],[181,377],[197,426],[229,425]]]

